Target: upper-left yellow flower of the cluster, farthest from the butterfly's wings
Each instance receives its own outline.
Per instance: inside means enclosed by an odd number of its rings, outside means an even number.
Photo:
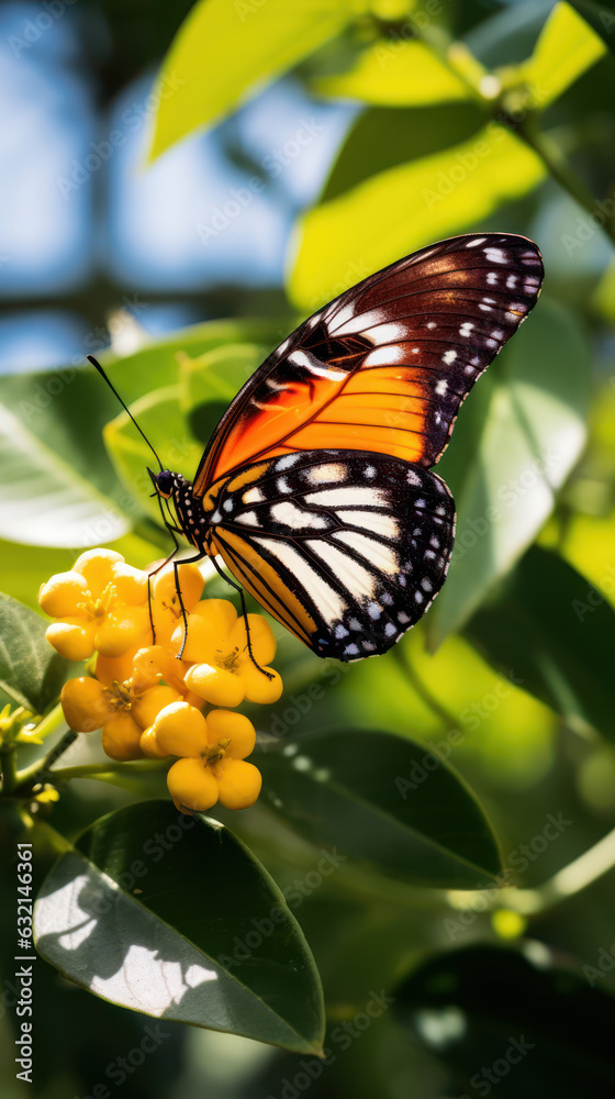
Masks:
[[[47,641],[68,660],[88,659],[94,650],[122,656],[152,637],[147,574],[113,550],[82,553],[70,571],[42,586],[38,602],[57,620],[47,628]]]

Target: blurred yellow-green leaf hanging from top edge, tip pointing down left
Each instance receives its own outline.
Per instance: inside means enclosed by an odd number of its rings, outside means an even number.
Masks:
[[[150,159],[335,37],[360,0],[200,0],[163,62]]]

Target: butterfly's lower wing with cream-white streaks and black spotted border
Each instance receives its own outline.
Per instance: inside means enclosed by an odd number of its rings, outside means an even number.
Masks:
[[[366,451],[304,451],[223,478],[213,548],[318,656],[387,652],[440,589],[455,529],[444,481]]]

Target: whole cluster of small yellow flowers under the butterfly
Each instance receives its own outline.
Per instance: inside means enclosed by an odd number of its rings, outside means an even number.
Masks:
[[[260,774],[245,758],[256,732],[227,708],[280,697],[280,676],[267,666],[276,654],[273,634],[260,614],[248,614],[260,670],[233,604],[201,599],[195,565],[179,566],[179,586],[187,633],[172,565],[148,576],[112,550],[89,550],[70,571],[43,585],[38,601],[56,619],[46,634],[54,648],[70,660],[96,653],[96,675],[65,684],[64,715],[77,732],[102,729],[112,759],[178,756],[167,784],[182,812],[216,801],[244,809],[260,792]],[[205,703],[216,709],[203,714]]]

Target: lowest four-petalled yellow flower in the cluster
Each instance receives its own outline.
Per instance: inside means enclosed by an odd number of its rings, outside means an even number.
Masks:
[[[205,719],[193,707],[171,703],[158,713],[152,732],[169,754],[186,752],[167,775],[180,812],[205,812],[216,801],[226,809],[247,809],[258,798],[260,771],[245,759],[256,732],[243,713],[212,710]]]

